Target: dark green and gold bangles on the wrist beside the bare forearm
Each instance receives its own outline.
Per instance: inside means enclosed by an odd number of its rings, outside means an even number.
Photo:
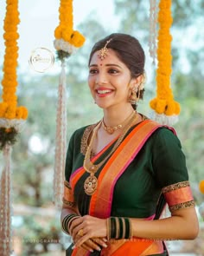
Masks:
[[[129,218],[110,217],[106,221],[107,225],[107,240],[127,240],[131,239],[132,226]]]

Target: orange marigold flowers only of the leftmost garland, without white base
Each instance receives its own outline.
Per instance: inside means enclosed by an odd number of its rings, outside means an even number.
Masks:
[[[20,23],[18,1],[7,0],[6,16],[4,19],[5,54],[3,62],[3,102],[0,102],[0,118],[27,119],[28,110],[25,107],[17,107],[16,88],[18,85],[16,67],[18,57],[17,25]]]

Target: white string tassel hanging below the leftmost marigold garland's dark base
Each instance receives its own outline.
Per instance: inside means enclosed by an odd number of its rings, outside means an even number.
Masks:
[[[11,254],[11,146],[6,144],[3,148],[4,167],[1,175],[0,187],[0,253],[1,256]]]

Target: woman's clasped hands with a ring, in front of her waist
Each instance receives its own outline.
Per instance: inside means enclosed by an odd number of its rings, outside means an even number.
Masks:
[[[106,247],[107,227],[105,219],[85,215],[73,220],[69,232],[73,237],[75,247],[82,246],[86,250],[87,247],[96,250],[100,250],[99,246]]]

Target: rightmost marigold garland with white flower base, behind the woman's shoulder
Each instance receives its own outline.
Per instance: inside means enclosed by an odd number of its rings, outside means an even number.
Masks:
[[[171,16],[171,0],[161,0],[158,13],[158,47],[156,70],[156,98],[150,101],[150,107],[155,110],[157,121],[165,124],[173,124],[180,113],[180,105],[175,102],[170,88],[171,75],[171,41],[170,27],[173,22]]]

